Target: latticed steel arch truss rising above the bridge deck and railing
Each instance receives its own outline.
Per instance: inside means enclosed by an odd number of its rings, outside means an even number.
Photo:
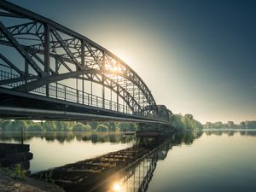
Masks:
[[[0,77],[0,86],[27,93],[44,89],[44,95],[49,96],[53,84],[58,92],[61,80],[76,79],[78,98],[80,94],[85,104],[84,82],[90,81],[102,85],[102,108],[108,88],[116,94],[117,111],[121,98],[123,108],[131,109],[132,114],[157,116],[158,107],[148,86],[119,57],[89,38],[13,3],[1,1],[0,11],[0,44],[15,48],[24,59],[17,64],[0,53],[0,61],[9,70],[3,72],[9,75]],[[15,25],[4,22],[9,18],[15,20]],[[82,90],[78,82],[82,82]]]

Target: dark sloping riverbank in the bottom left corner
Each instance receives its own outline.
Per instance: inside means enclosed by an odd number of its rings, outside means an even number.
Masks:
[[[0,168],[0,191],[3,192],[65,192],[59,186],[32,177],[15,179],[14,172]]]

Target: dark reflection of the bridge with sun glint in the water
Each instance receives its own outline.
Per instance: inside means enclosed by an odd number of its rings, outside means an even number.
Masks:
[[[143,138],[132,148],[38,172],[34,177],[55,181],[69,192],[146,191],[157,161],[166,158],[168,141],[159,144],[157,139]]]

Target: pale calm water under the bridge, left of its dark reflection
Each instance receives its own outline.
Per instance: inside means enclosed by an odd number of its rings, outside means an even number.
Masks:
[[[20,133],[2,132],[0,142],[20,143]],[[33,173],[129,148],[133,137],[123,137],[120,133],[28,132],[24,143],[30,145],[33,154],[30,160]]]

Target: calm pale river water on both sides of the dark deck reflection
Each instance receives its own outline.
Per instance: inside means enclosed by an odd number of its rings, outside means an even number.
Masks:
[[[4,143],[19,142],[18,135],[1,133],[0,139]],[[145,147],[160,143],[156,152],[122,172],[104,191],[256,191],[256,131],[201,131],[160,141],[108,133],[38,133],[25,138],[34,154],[32,172],[135,144]]]

